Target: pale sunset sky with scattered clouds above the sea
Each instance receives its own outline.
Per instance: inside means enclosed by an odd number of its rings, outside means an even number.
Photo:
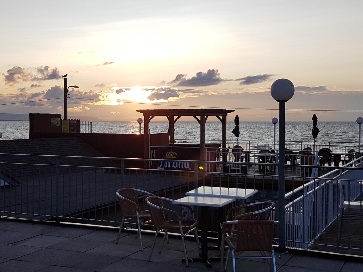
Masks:
[[[354,0],[4,1],[0,104],[62,98],[67,74],[79,86],[68,115],[135,121],[136,109],[221,107],[236,109],[229,121],[269,121],[270,86],[287,78],[287,109],[326,110],[287,111],[287,121],[355,121],[362,112],[329,110],[363,110],[362,11]],[[63,99],[0,112],[63,115]]]

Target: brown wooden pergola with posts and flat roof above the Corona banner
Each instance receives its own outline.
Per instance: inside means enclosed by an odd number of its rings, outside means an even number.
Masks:
[[[166,116],[169,121],[170,143],[174,144],[174,124],[181,116],[193,116],[200,124],[200,160],[205,160],[205,122],[208,116],[216,116],[222,123],[222,151],[227,144],[227,115],[234,110],[213,108],[136,110],[144,115],[144,158],[149,157],[149,123],[155,116]],[[226,154],[223,153],[223,161]]]

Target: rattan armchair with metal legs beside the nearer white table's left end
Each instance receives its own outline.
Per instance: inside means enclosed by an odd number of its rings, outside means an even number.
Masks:
[[[184,242],[185,235],[194,231],[194,235],[195,235],[195,239],[198,244],[199,252],[201,252],[199,239],[198,239],[198,232],[197,232],[198,221],[194,219],[194,212],[193,212],[192,207],[190,207],[188,205],[181,205],[183,207],[187,207],[187,209],[192,214],[192,219],[181,219],[180,215],[176,211],[166,209],[162,205],[163,201],[172,202],[173,201],[172,199],[165,198],[165,197],[152,196],[152,197],[147,197],[145,200],[146,200],[146,203],[150,207],[152,221],[154,222],[154,226],[156,227],[154,242],[152,243],[151,251],[150,251],[150,254],[149,254],[149,257],[147,260],[150,261],[150,259],[151,259],[151,255],[152,255],[152,252],[154,251],[154,247],[155,247],[156,238],[158,237],[158,234],[160,232],[164,231],[164,237],[163,237],[163,242],[162,242],[162,246],[160,248],[159,253],[161,253],[161,251],[163,249],[165,238],[168,234],[168,231],[179,231],[180,235],[181,235],[181,242],[183,243],[185,264],[187,266],[189,266],[187,250],[185,248],[185,242]],[[167,221],[167,219],[165,218],[166,214],[174,215],[178,219]]]

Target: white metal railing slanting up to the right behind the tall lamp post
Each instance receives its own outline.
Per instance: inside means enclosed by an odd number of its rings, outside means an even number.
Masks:
[[[303,191],[285,206],[287,246],[308,248],[337,219],[340,214],[338,180],[343,180],[344,201],[354,201],[362,193],[359,181],[363,180],[363,171],[355,171],[363,165],[359,164],[360,160],[344,165],[347,170],[333,170],[285,194],[288,198]]]

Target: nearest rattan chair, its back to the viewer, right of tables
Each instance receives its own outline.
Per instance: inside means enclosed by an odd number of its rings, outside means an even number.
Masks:
[[[276,272],[275,254],[272,247],[274,224],[273,220],[236,220],[223,223],[223,229],[229,226],[236,228],[236,235],[222,239],[222,247],[229,247],[224,270],[227,270],[229,251],[232,251],[233,271],[236,271],[236,259],[272,259]],[[235,256],[235,252],[263,251],[271,252],[271,256]],[[221,269],[223,269],[224,252],[221,252]]]

